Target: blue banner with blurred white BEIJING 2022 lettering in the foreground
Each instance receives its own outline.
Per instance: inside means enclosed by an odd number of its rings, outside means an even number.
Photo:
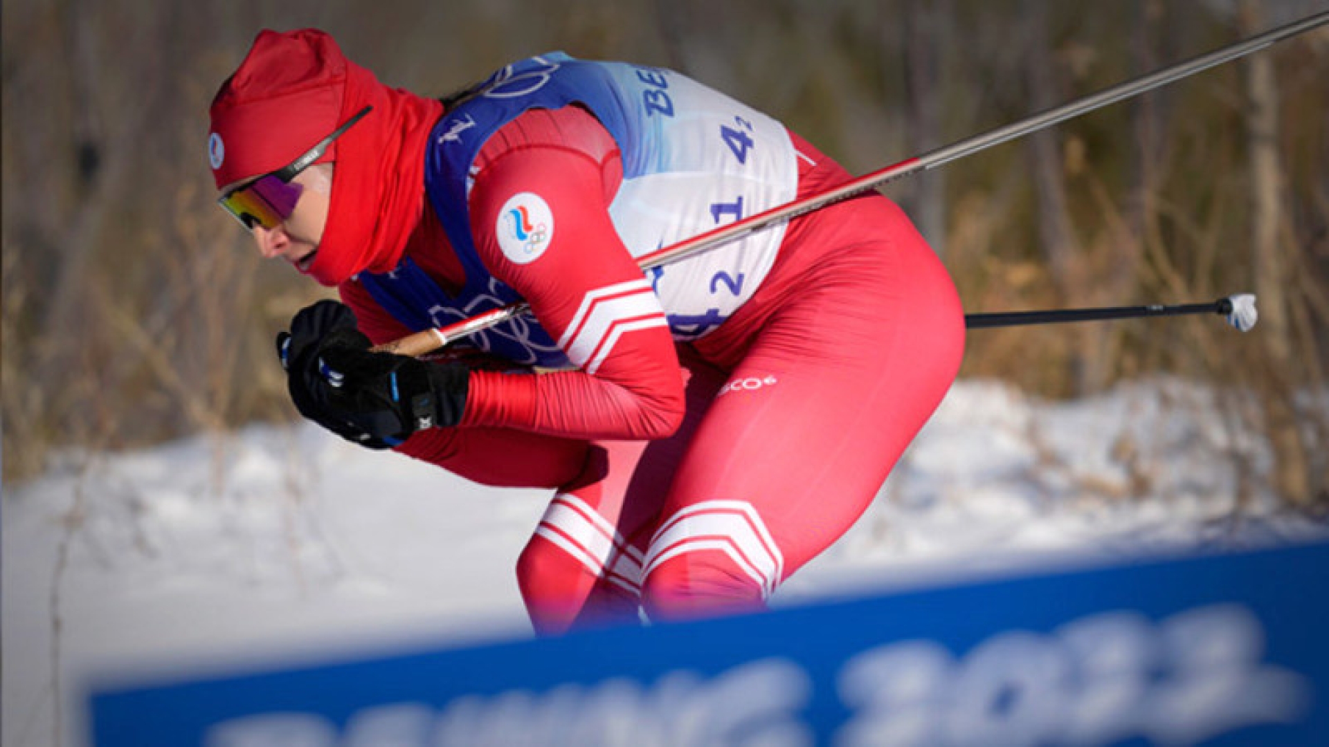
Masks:
[[[105,747],[1325,744],[1329,544],[105,687]]]

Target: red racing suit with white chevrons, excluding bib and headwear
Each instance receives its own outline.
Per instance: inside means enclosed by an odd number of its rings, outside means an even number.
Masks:
[[[851,178],[789,138],[797,197]],[[791,221],[755,292],[676,340],[610,215],[623,173],[619,145],[577,105],[489,137],[470,170],[476,251],[578,367],[477,370],[459,427],[399,447],[484,484],[556,488],[517,569],[542,634],[639,609],[760,609],[867,509],[964,350],[949,275],[874,193]],[[504,235],[530,194],[553,226],[533,259]],[[405,257],[444,290],[466,282],[428,206]],[[413,331],[359,279],[340,294],[375,343]]]

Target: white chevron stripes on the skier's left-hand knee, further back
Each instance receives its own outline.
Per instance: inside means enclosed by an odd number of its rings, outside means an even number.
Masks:
[[[629,545],[613,524],[577,496],[554,496],[536,534],[574,557],[594,576],[641,594],[642,552]]]

